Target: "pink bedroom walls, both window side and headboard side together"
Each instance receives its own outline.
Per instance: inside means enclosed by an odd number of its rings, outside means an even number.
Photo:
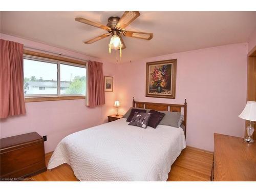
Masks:
[[[0,35],[32,48],[101,61],[40,42]],[[105,105],[89,109],[84,100],[26,103],[26,115],[0,121],[0,136],[36,131],[48,136],[47,153],[53,151],[63,137],[106,122],[106,116],[115,113],[116,99],[121,102],[120,113],[124,113],[132,105],[133,96],[138,101],[163,103],[184,103],[186,98],[187,144],[213,151],[215,132],[243,137],[245,122],[238,115],[246,103],[247,52],[248,44],[244,43],[145,58],[118,66],[103,62],[104,75],[114,76],[114,92],[105,92]],[[146,98],[145,63],[174,58],[178,60],[176,99]]]

